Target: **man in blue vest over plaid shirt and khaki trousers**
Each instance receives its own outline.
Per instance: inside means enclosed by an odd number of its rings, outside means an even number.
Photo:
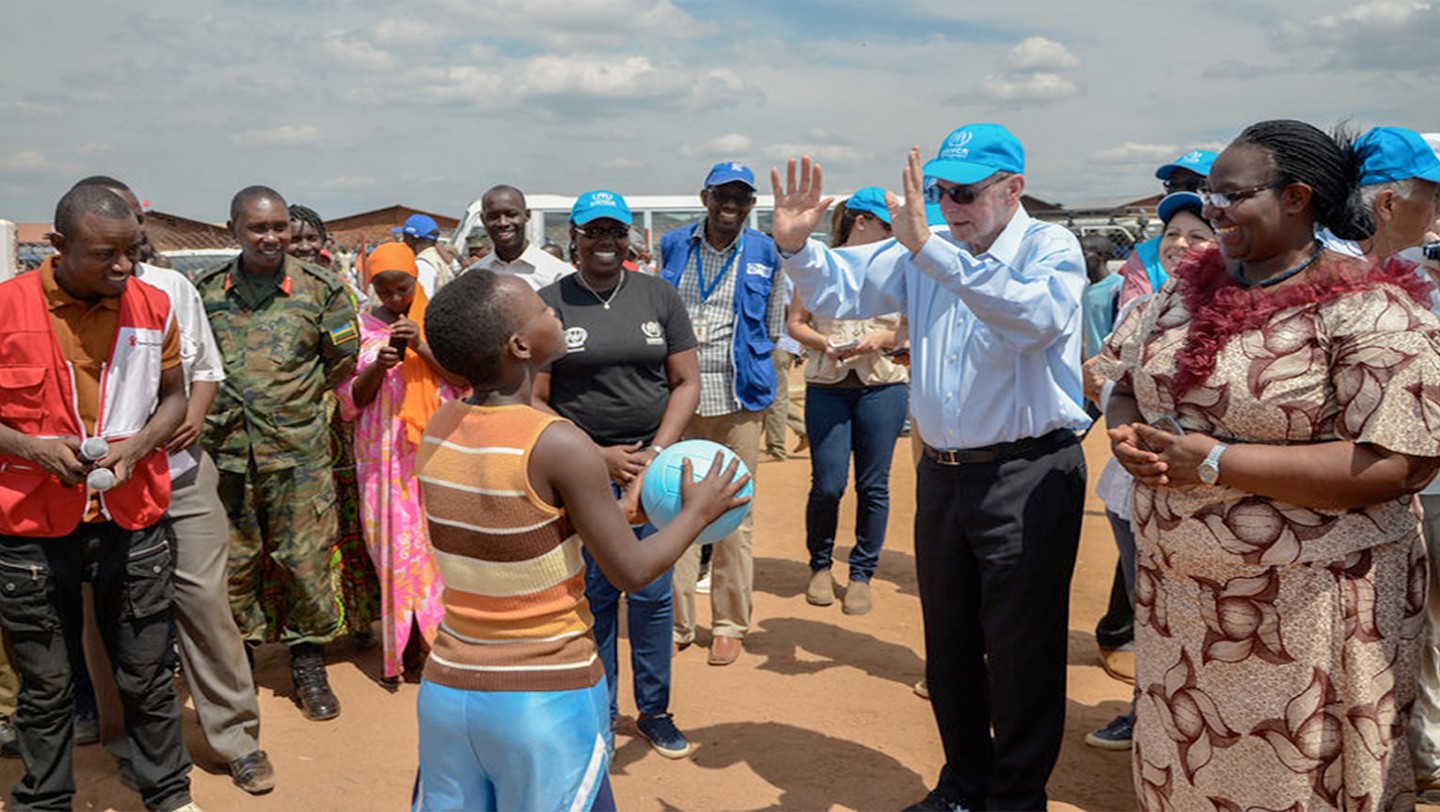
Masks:
[[[785,328],[785,284],[775,242],[746,223],[755,207],[755,173],[724,161],[711,167],[700,191],[704,220],[660,240],[661,278],[680,291],[700,354],[700,407],[685,430],[726,445],[756,471],[765,410],[775,399],[770,353]],[[740,657],[750,628],[755,564],[752,514],[714,544],[710,563],[710,664]],[[675,563],[675,645],[696,639],[696,579],[700,547]]]

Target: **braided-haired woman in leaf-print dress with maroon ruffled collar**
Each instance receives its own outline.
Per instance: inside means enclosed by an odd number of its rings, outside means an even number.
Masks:
[[[1414,805],[1426,596],[1410,497],[1440,466],[1440,322],[1368,236],[1348,145],[1247,128],[1192,253],[1097,367],[1136,478],[1142,809]]]

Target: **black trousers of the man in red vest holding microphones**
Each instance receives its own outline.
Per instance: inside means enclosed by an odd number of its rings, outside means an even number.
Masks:
[[[62,538],[0,536],[0,623],[20,672],[14,721],[24,759],[10,808],[69,809],[75,795],[71,654],[82,633],[82,582],[95,592],[141,798],[148,809],[190,802],[180,704],[174,678],[161,667],[173,561],[160,525],[128,531],[107,521],[82,524]]]

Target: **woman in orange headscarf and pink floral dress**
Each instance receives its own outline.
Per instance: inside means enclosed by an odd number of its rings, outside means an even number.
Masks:
[[[356,423],[360,517],[380,579],[384,680],[393,684],[408,665],[423,662],[444,615],[415,455],[442,397],[465,383],[441,369],[422,338],[426,298],[410,248],[376,248],[366,258],[364,282],[374,297],[360,312],[360,358],[337,394],[341,413]]]

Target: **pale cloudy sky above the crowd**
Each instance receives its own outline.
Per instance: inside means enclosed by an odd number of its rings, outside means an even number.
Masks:
[[[276,187],[337,217],[459,215],[495,183],[698,189],[809,153],[894,187],[910,144],[998,121],[1030,191],[1158,191],[1261,118],[1440,130],[1440,9],[1372,0],[485,0],[0,6],[0,217],[127,180],[223,220]]]

